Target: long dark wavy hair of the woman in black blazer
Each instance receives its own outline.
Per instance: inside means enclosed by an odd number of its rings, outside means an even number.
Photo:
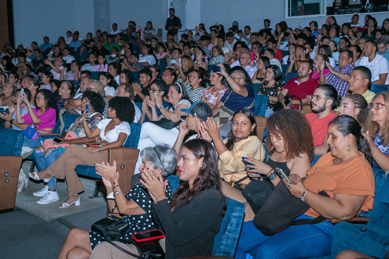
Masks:
[[[181,201],[186,201],[188,204],[192,198],[207,189],[216,189],[223,198],[223,216],[226,213],[226,198],[221,191],[221,179],[219,176],[219,170],[217,169],[217,154],[212,145],[203,139],[193,139],[182,144],[182,148],[187,148],[197,158],[204,158],[203,165],[199,169],[196,179],[193,181],[193,188],[189,187],[189,183],[183,182],[176,189],[170,201],[170,208],[174,208]]]

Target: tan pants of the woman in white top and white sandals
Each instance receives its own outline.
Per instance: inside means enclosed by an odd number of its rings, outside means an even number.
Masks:
[[[68,185],[68,196],[73,196],[84,191],[80,179],[75,173],[77,165],[94,166],[94,163],[107,163],[108,151],[89,153],[86,147],[72,144],[47,167],[47,172],[59,179],[65,179]]]

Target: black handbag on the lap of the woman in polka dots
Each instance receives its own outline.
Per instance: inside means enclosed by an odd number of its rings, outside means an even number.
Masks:
[[[119,238],[130,232],[130,224],[124,221],[124,219],[109,216],[93,223],[91,231],[98,233],[106,240],[120,241]],[[132,239],[129,240],[131,241]],[[128,242],[129,240],[124,241]]]

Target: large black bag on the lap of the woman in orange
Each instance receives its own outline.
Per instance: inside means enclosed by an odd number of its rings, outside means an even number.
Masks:
[[[325,191],[320,195],[329,197]],[[282,182],[270,193],[258,213],[255,215],[253,224],[265,236],[280,233],[293,225],[317,224],[325,221],[323,216],[314,219],[296,219],[304,214],[310,206],[299,198],[292,196]]]

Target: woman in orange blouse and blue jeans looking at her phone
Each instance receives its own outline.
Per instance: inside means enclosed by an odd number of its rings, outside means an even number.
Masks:
[[[368,162],[371,161],[371,151],[361,135],[361,126],[353,117],[337,116],[328,125],[328,135],[331,152],[319,158],[307,171],[307,177],[292,173],[288,177],[291,184],[286,179],[279,183],[285,184],[292,196],[301,198],[310,206],[296,219],[314,219],[322,215],[345,221],[355,217],[360,210],[373,208],[374,175]],[[269,174],[271,178],[276,176],[273,169]],[[329,197],[318,194],[322,190]],[[253,259],[328,256],[331,254],[333,228],[328,221],[323,221],[289,226],[280,233],[265,236],[252,221],[244,222],[234,257],[245,259],[246,253]]]

